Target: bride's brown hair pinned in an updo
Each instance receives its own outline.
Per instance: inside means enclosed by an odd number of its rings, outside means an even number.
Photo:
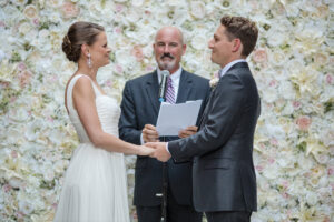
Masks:
[[[73,23],[62,39],[62,51],[69,61],[78,62],[84,43],[91,46],[97,36],[105,31],[105,28],[91,23],[79,21]]]

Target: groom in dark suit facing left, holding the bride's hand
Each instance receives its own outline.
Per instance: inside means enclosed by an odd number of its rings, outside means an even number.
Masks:
[[[194,204],[208,222],[244,222],[256,211],[253,140],[261,111],[256,83],[246,62],[257,40],[254,22],[223,17],[209,41],[220,80],[204,111],[199,131],[168,143],[148,143],[153,157],[167,161],[194,159]]]

